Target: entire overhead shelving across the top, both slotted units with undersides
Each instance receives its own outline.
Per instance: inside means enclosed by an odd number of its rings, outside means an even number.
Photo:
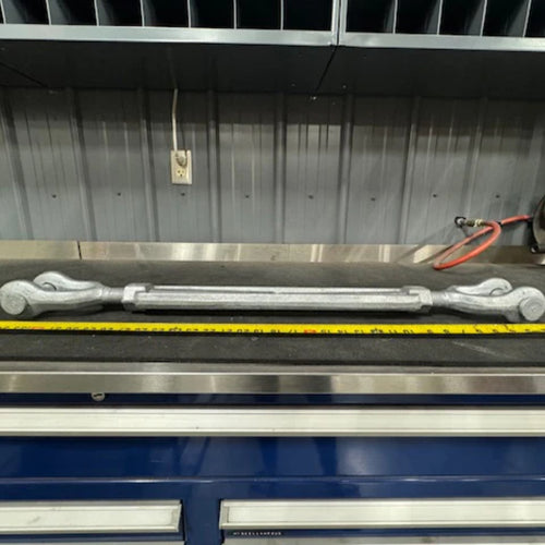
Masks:
[[[0,85],[542,98],[545,0],[0,0]]]

